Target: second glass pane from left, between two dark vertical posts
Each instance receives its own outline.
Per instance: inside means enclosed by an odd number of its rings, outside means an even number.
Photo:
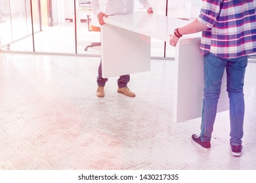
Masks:
[[[35,52],[75,54],[74,0],[39,0],[40,31]]]

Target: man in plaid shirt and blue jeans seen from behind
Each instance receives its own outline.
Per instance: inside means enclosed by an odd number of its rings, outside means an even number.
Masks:
[[[233,156],[242,154],[244,135],[244,76],[249,54],[256,52],[255,0],[203,0],[200,16],[170,35],[176,46],[182,35],[202,31],[200,53],[204,59],[204,99],[200,135],[192,142],[211,148],[224,69],[230,100],[230,146]]]

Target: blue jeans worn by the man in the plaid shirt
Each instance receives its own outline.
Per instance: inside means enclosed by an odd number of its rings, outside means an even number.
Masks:
[[[230,103],[230,144],[242,144],[244,135],[244,76],[247,56],[223,59],[208,53],[204,56],[204,90],[201,140],[211,141],[217,103],[221,93],[221,80],[226,68],[226,88]],[[224,124],[225,125],[225,124]]]

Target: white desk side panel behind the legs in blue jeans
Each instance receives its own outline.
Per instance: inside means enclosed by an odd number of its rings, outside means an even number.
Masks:
[[[199,53],[200,38],[180,40],[175,50],[175,84],[173,120],[184,122],[202,116],[203,56]],[[218,112],[228,110],[226,72],[223,76]]]

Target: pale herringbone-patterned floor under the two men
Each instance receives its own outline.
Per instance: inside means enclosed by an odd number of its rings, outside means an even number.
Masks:
[[[244,154],[230,155],[228,112],[212,148],[190,142],[200,119],[173,122],[173,62],[131,75],[135,98],[95,95],[99,58],[0,54],[0,169],[256,169],[256,64],[245,78]]]

